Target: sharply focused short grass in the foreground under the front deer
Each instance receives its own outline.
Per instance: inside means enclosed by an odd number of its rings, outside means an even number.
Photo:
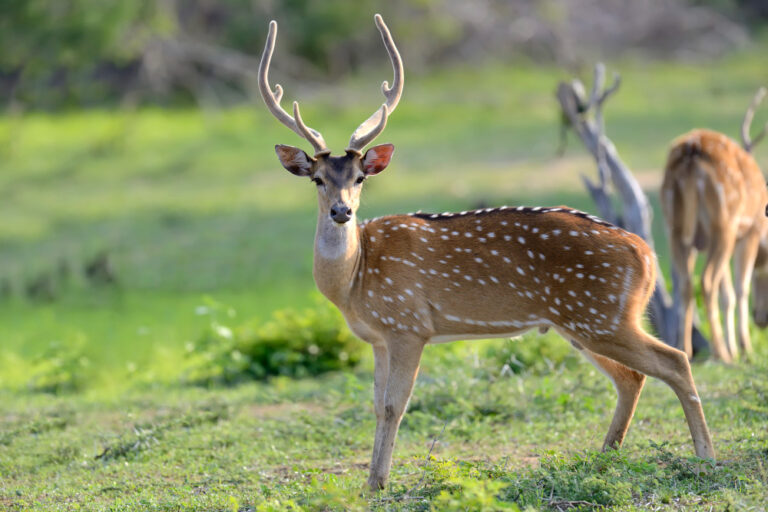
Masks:
[[[483,503],[485,510],[512,504],[551,510],[749,510],[765,505],[764,350],[754,364],[738,368],[695,367],[718,452],[711,465],[693,457],[682,409],[672,391],[655,380],[646,385],[622,450],[597,452],[614,404],[610,382],[567,349],[548,365],[506,373],[498,349],[509,343],[539,349],[566,345],[548,335],[544,345],[527,336],[429,347],[401,427],[391,484],[367,497],[360,491],[374,429],[369,369],[230,389],[146,384],[119,399],[4,392],[0,507],[476,510]]]

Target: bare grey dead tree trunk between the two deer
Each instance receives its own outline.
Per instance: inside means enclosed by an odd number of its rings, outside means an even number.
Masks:
[[[603,133],[603,103],[619,88],[618,74],[614,75],[613,84],[605,88],[605,67],[595,65],[594,83],[589,98],[584,85],[578,79],[570,83],[561,82],[557,87],[557,99],[565,119],[579,135],[587,150],[597,162],[598,182],[582,175],[582,181],[589,190],[597,209],[608,222],[641,236],[654,249],[651,233],[652,211],[643,190],[635,180],[629,168],[619,158],[616,147]],[[593,114],[590,116],[590,112]],[[611,199],[609,187],[618,195],[617,204],[623,211],[617,212]],[[664,274],[656,261],[656,288],[653,292],[648,312],[656,334],[667,344],[677,343],[678,308],[673,304],[664,283]],[[707,339],[693,326],[694,353],[708,346]],[[677,347],[681,348],[681,347]]]

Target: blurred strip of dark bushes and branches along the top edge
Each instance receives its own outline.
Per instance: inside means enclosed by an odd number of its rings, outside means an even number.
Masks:
[[[411,73],[516,57],[709,58],[746,45],[768,17],[761,0],[6,1],[0,94],[46,109],[242,101],[269,19],[281,23],[283,72],[338,81],[379,60],[376,10],[397,27]]]

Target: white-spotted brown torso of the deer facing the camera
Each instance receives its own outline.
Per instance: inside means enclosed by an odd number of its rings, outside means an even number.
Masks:
[[[350,296],[360,319],[426,338],[551,325],[598,339],[636,314],[629,304],[653,283],[653,255],[639,237],[570,208],[432,217],[396,215],[362,227],[364,257]],[[393,247],[407,250],[393,257]],[[402,283],[411,286],[404,291]]]

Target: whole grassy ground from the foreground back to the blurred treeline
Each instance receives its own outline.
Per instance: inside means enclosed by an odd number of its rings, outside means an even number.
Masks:
[[[674,136],[694,126],[737,134],[766,79],[764,50],[706,66],[616,66],[623,86],[607,106],[608,134],[653,200]],[[343,148],[380,104],[383,69],[313,94],[284,84],[287,100],[306,98],[304,118]],[[361,217],[479,204],[592,211],[579,174],[594,164],[572,136],[566,157],[554,156],[553,92],[565,78],[528,65],[409,75],[381,139],[396,145],[393,164],[367,182]],[[234,326],[312,304],[313,187],[279,167],[276,143],[306,146],[261,104],[0,118],[0,284],[12,290],[0,299],[0,509],[764,507],[763,333],[752,364],[695,368],[721,460],[698,476],[682,411],[659,383],[627,449],[596,453],[612,390],[559,349],[518,376],[504,370],[516,359],[495,348],[510,342],[430,348],[393,486],[373,499],[356,493],[373,432],[369,360],[320,380],[181,385],[211,304],[231,309]],[[117,285],[82,273],[102,251]],[[53,300],[24,294],[40,280]],[[33,391],[50,378],[72,386]],[[460,490],[476,503],[452,503]]]

